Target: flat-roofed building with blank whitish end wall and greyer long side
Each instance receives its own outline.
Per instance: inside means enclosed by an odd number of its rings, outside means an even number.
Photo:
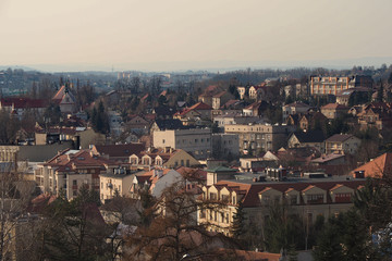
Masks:
[[[211,129],[167,129],[154,132],[154,147],[183,149],[195,159],[207,159],[211,154]]]

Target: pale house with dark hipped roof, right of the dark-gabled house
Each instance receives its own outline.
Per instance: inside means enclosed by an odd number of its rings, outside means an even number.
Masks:
[[[360,146],[360,139],[351,134],[335,134],[326,139],[326,154],[354,154]]]

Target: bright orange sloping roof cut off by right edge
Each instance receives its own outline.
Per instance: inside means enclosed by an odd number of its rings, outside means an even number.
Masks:
[[[383,153],[376,159],[353,170],[354,177],[376,177],[382,178],[392,174],[392,153]]]

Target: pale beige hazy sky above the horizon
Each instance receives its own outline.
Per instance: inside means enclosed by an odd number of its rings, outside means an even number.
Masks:
[[[392,57],[391,13],[391,0],[0,0],[0,65]]]

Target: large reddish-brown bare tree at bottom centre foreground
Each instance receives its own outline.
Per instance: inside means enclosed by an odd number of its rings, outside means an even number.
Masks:
[[[211,257],[216,253],[211,249],[215,244],[230,243],[222,234],[207,232],[206,224],[196,222],[198,209],[213,209],[218,203],[198,201],[196,195],[186,191],[184,186],[183,182],[179,182],[167,188],[162,197],[149,208],[156,217],[148,226],[139,227],[127,238],[132,260]]]

